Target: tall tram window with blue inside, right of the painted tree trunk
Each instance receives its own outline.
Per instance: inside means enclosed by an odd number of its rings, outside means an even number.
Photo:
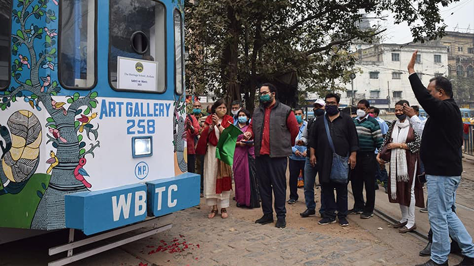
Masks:
[[[95,0],[61,0],[59,10],[59,82],[90,89],[96,83]]]

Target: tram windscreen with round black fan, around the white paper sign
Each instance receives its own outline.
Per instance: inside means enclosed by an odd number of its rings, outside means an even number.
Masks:
[[[117,89],[117,57],[121,56],[158,62],[156,92],[165,92],[165,5],[155,0],[110,0],[109,5],[110,85]]]

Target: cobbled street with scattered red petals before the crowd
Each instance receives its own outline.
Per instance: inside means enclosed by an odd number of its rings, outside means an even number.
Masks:
[[[467,155],[465,155],[467,156]],[[474,157],[464,160],[465,175],[457,195],[458,214],[468,231],[473,234]],[[349,186],[350,187],[350,186]],[[315,190],[319,201],[319,189]],[[428,258],[418,256],[426,240],[409,233],[400,234],[387,219],[374,216],[361,220],[358,215],[348,217],[350,225],[337,223],[320,226],[318,216],[301,218],[304,211],[303,190],[299,200],[286,205],[287,228],[277,229],[272,224],[257,225],[261,209],[236,208],[231,203],[229,219],[218,215],[208,219],[208,207],[201,199],[201,209],[190,208],[172,214],[171,230],[153,237],[98,254],[70,264],[71,266],[233,266],[233,265],[304,265],[304,266],[391,266],[415,265]],[[349,193],[349,208],[352,195]],[[317,208],[319,203],[317,203]],[[388,203],[383,188],[377,191],[377,213],[399,219],[397,204]],[[428,215],[416,210],[417,232],[426,235]],[[47,256],[49,247],[67,240],[67,231],[59,231],[0,246],[0,266],[37,266],[64,257]],[[97,243],[103,245],[109,242]],[[27,254],[27,256],[25,256]],[[451,255],[450,264],[460,261]]]

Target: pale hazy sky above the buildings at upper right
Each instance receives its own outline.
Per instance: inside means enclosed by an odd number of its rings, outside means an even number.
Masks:
[[[441,6],[441,5],[440,5]],[[447,7],[441,6],[441,17],[448,25],[447,31],[459,31],[474,33],[474,0],[460,0],[451,3]],[[452,14],[453,13],[453,14]],[[387,29],[383,33],[384,43],[407,43],[413,40],[410,28],[406,22],[395,25],[393,17],[387,21],[381,21]],[[458,25],[455,30],[456,25]],[[468,31],[468,27],[470,28]]]

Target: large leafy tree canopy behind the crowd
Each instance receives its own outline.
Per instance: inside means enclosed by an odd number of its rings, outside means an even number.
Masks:
[[[397,24],[408,22],[414,40],[423,42],[443,36],[438,4],[454,1],[186,1],[186,87],[228,101],[243,93],[253,103],[258,84],[296,73],[307,91],[334,90],[350,81],[350,45],[380,38],[384,29],[377,19],[384,12],[392,12]],[[364,14],[375,18],[372,27],[359,26]]]

